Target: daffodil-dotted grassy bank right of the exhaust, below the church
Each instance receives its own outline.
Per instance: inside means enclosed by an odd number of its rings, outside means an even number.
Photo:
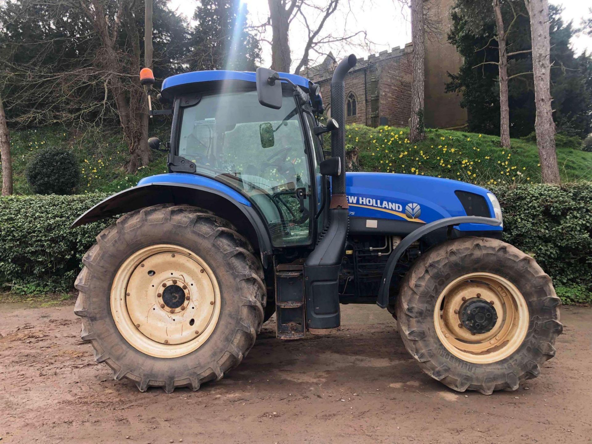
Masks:
[[[503,149],[499,137],[452,130],[427,130],[426,139],[410,143],[407,128],[347,127],[352,169],[410,173],[458,179],[474,184],[540,182],[536,143],[512,139]],[[592,179],[592,153],[578,146],[558,146],[562,180]]]

